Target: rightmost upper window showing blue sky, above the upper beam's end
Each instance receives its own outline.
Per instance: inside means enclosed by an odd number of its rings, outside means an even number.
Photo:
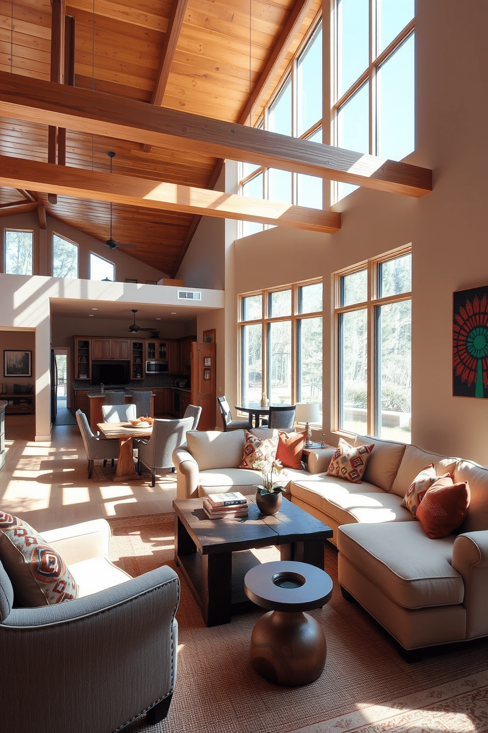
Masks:
[[[399,161],[415,148],[415,0],[335,0],[339,147]],[[353,185],[337,183],[336,199]]]

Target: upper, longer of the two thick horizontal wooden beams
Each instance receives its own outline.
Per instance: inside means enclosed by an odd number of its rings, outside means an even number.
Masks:
[[[230,158],[319,176],[380,191],[423,196],[432,171],[342,148],[233,125],[189,112],[147,105],[115,95],[0,72],[0,116],[57,123],[173,150]]]

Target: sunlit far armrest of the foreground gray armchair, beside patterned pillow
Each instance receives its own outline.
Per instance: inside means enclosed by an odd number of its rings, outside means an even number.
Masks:
[[[110,525],[105,519],[50,529],[40,534],[59,552],[67,565],[94,557],[110,557]]]

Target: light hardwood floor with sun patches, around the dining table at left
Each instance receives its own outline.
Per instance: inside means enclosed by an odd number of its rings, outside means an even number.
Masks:
[[[22,517],[39,531],[97,517],[129,517],[172,512],[176,474],[115,482],[110,466],[95,463],[88,479],[78,425],[53,427],[48,442],[34,441],[34,415],[5,416],[4,468],[0,509]],[[100,469],[97,470],[97,466]]]

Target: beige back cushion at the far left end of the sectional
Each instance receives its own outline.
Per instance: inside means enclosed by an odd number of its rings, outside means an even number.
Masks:
[[[200,471],[209,468],[237,468],[244,451],[244,430],[189,430],[187,446]]]

